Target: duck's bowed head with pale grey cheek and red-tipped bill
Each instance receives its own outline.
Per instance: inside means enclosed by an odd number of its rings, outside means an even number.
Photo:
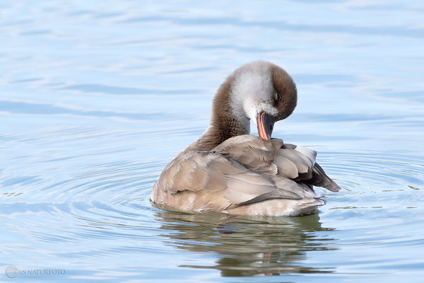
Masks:
[[[227,94],[227,103],[220,97],[223,94]],[[228,76],[218,89],[214,110],[227,106],[227,112],[221,116],[231,115],[242,127],[247,127],[247,133],[252,120],[257,125],[259,137],[271,139],[273,124],[288,117],[297,100],[296,85],[286,71],[270,62],[254,61]]]

